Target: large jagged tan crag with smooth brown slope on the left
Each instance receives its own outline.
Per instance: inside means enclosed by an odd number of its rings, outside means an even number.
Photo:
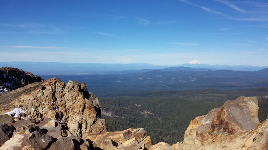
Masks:
[[[86,137],[107,131],[105,120],[98,119],[101,118],[98,98],[87,91],[85,83],[69,81],[64,84],[51,78],[3,94],[0,103],[0,115],[20,108],[26,118],[36,121],[54,119],[64,135]]]

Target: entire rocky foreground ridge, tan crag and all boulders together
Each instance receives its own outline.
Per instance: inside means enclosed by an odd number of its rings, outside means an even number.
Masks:
[[[98,98],[77,81],[35,81],[2,94],[0,104],[0,150],[268,149],[268,120],[259,123],[256,97],[196,117],[174,145],[151,145],[143,128],[108,132]]]

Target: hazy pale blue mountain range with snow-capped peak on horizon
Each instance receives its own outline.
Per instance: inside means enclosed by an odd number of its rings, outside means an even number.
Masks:
[[[250,65],[208,65],[195,60],[181,65],[152,64],[101,64],[101,63],[62,63],[62,62],[0,62],[0,67],[15,67],[37,75],[70,75],[70,74],[120,74],[146,72],[150,70],[236,70],[258,71],[267,66]],[[187,67],[187,68],[185,68]],[[197,69],[197,70],[195,70]]]

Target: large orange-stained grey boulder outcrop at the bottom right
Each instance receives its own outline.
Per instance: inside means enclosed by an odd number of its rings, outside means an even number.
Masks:
[[[226,101],[221,108],[192,120],[184,141],[172,147],[174,150],[268,149],[268,120],[259,124],[258,109],[256,97],[241,96]],[[163,143],[156,145],[150,149],[168,147]]]

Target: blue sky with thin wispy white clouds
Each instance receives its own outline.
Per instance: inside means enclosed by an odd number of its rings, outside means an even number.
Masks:
[[[268,2],[0,2],[0,61],[268,66]]]

